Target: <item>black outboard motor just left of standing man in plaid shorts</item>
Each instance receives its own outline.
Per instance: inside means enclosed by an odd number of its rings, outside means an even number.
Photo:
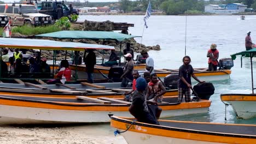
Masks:
[[[165,87],[167,87],[168,89],[177,89],[178,80],[179,80],[179,74],[167,75],[164,79]]]

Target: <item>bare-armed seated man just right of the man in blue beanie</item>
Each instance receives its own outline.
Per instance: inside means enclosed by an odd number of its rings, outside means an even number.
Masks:
[[[150,101],[162,102],[162,97],[166,93],[166,89],[162,82],[158,80],[158,75],[151,74],[150,82],[147,86],[146,98]]]

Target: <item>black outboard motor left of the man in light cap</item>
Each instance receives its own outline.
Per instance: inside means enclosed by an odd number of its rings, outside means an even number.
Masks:
[[[124,74],[123,67],[113,66],[109,69],[108,79],[110,82],[121,82],[122,79],[120,77]]]

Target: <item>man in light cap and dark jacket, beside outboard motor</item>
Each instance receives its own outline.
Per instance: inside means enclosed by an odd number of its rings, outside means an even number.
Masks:
[[[134,63],[132,61],[132,55],[131,55],[131,53],[127,53],[124,56],[125,56],[127,63],[125,65],[124,74],[121,75],[121,77],[120,77],[121,79],[123,79],[121,82],[121,87],[127,87],[128,82],[129,81],[132,82],[132,79],[133,79],[132,71],[133,71]]]

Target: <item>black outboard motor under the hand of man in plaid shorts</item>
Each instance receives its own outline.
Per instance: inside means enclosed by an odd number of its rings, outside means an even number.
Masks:
[[[200,99],[206,99],[206,100],[210,99],[211,95],[214,94],[214,90],[215,90],[211,82],[197,83],[193,87],[193,89],[197,94],[197,97],[199,97]]]

